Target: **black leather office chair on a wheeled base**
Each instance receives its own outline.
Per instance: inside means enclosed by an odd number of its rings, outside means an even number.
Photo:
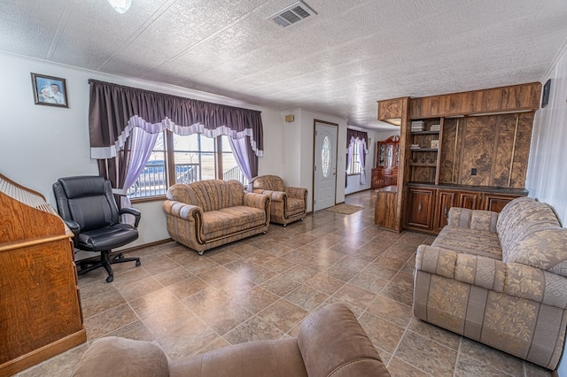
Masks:
[[[124,258],[119,253],[111,255],[111,250],[124,246],[138,238],[138,223],[141,212],[134,208],[118,209],[110,181],[97,176],[59,178],[53,183],[53,193],[57,201],[59,215],[73,231],[74,247],[86,251],[100,252],[100,259],[87,259],[78,262],[77,273],[88,273],[105,267],[107,282],[114,279],[111,265],[136,261],[140,258]],[[120,223],[120,215],[128,213],[135,216],[134,226]]]

